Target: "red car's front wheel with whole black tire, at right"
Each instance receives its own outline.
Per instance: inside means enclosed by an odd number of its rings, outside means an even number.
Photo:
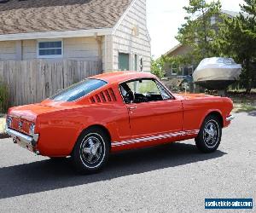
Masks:
[[[210,115],[203,124],[201,130],[195,138],[195,144],[203,153],[212,153],[218,149],[221,141],[222,126],[218,117]]]

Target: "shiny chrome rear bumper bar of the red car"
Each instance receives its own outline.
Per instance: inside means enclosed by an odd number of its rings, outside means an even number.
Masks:
[[[10,135],[14,140],[18,139],[32,147],[34,147],[38,142],[39,134],[34,134],[32,136],[29,136],[15,130],[11,130],[9,128],[6,128],[6,133]]]

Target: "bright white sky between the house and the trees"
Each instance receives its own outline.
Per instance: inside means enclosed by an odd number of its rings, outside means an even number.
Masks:
[[[221,0],[222,9],[240,11],[242,0]],[[183,6],[189,0],[147,0],[148,31],[151,37],[151,53],[158,58],[178,44],[175,36],[186,15]]]

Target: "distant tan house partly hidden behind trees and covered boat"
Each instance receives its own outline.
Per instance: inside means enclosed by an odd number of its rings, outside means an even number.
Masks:
[[[221,10],[222,14],[228,15],[230,18],[236,17],[239,15],[237,12],[229,11],[229,10]],[[248,14],[243,14],[244,16],[247,16]],[[217,21],[222,21],[220,18],[216,16],[211,17],[211,24],[214,27]],[[177,44],[175,47],[170,49],[168,52],[166,52],[165,56],[177,56],[177,55],[186,55],[188,54],[192,48],[183,45],[181,43]],[[183,78],[184,76],[192,75],[193,72],[196,69],[196,64],[191,64],[189,66],[172,66],[171,64],[166,63],[164,66],[164,70],[166,72],[166,77],[177,77],[177,78]]]

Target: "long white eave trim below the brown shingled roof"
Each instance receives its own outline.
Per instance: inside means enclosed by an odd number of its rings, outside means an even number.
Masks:
[[[29,39],[51,39],[56,37],[94,37],[106,36],[113,33],[113,28],[103,29],[90,29],[79,31],[65,31],[65,32],[31,32],[31,33],[18,33],[18,34],[5,34],[0,35],[0,41],[16,41],[16,40],[29,40]]]

